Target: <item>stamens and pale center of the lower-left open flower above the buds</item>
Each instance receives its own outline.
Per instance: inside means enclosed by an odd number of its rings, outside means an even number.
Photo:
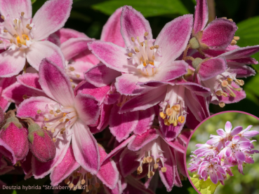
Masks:
[[[77,121],[77,111],[74,107],[62,107],[60,104],[46,105],[44,111],[38,110],[37,113],[44,116],[44,129],[51,130],[53,141],[59,133],[63,134]]]

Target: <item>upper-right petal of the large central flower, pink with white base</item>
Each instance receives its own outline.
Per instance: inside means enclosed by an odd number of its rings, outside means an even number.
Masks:
[[[161,48],[162,62],[173,62],[182,54],[190,39],[192,24],[193,15],[187,14],[164,26],[154,43]]]

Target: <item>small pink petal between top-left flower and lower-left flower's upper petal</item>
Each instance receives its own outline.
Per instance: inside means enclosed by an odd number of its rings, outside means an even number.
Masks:
[[[18,83],[28,87],[32,88],[34,90],[37,90],[39,92],[43,92],[41,89],[41,85],[39,84],[39,74],[23,74],[20,76],[17,76]]]

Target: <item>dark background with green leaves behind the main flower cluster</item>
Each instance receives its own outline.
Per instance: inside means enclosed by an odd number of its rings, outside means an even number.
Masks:
[[[46,0],[32,0],[33,14],[45,3]],[[232,18],[237,23],[239,29],[235,36],[240,36],[238,45],[253,46],[259,44],[259,1],[258,0],[208,0],[212,4],[212,12],[218,18],[227,17]],[[76,29],[79,32],[84,32],[87,36],[95,39],[100,39],[102,26],[107,22],[109,15],[111,15],[117,8],[128,5],[133,6],[140,11],[149,20],[152,27],[152,34],[155,37],[159,34],[161,29],[174,18],[187,13],[194,13],[195,0],[74,0],[72,12],[65,24],[65,27]],[[255,54],[259,60],[259,54]],[[252,65],[256,71],[259,71],[258,65]],[[259,116],[259,75],[244,79],[244,90],[246,91],[246,99],[243,99],[238,104],[227,104],[223,109],[219,106],[211,105],[212,113],[218,113],[226,110],[246,111]],[[199,134],[203,137],[203,134]],[[254,171],[255,172],[255,171]],[[254,174],[254,172],[252,174]],[[258,171],[256,171],[258,172]],[[259,175],[258,175],[259,176]],[[4,178],[3,178],[4,177]],[[237,176],[236,176],[237,177]],[[236,178],[235,177],[235,178]],[[246,177],[246,176],[242,176]],[[22,181],[23,175],[7,174],[1,176],[0,179],[10,185],[50,185],[49,179],[28,179]],[[244,178],[246,179],[246,178]],[[248,181],[249,179],[246,179]],[[251,179],[250,179],[251,180]],[[20,182],[22,181],[22,182]],[[234,181],[234,179],[232,179]],[[252,180],[251,180],[252,181]],[[189,181],[182,181],[183,188],[173,188],[171,193],[197,193],[190,185]],[[239,187],[241,185],[239,184]],[[232,187],[230,184],[229,187]],[[49,193],[51,190],[1,190],[1,194],[5,193]],[[67,193],[67,190],[61,190],[60,193]],[[235,191],[238,193],[237,191]],[[74,193],[81,193],[81,190],[74,191]],[[165,189],[158,189],[157,193],[166,193]]]

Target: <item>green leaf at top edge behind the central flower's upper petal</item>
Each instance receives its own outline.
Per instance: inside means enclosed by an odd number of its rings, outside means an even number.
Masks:
[[[112,15],[117,8],[125,5],[133,6],[133,8],[140,11],[145,17],[166,14],[183,15],[188,13],[187,8],[183,6],[180,0],[111,0],[95,4],[92,8],[107,15]]]

